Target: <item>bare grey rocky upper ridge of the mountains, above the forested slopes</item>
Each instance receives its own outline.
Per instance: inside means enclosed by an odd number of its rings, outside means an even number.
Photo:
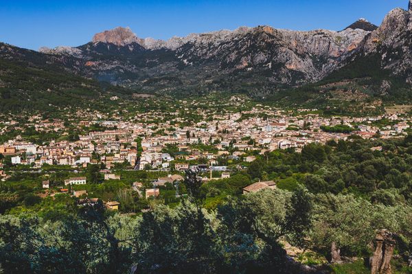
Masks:
[[[361,18],[341,32],[238,27],[233,31],[174,36],[164,41],[142,39],[128,27],[117,27],[95,34],[87,45],[41,48],[41,52],[80,58],[84,60],[85,72],[91,75],[128,72],[135,78],[155,77],[210,64],[224,73],[270,70],[266,74],[271,84],[301,86],[323,79],[354,60],[354,55],[379,54],[381,69],[389,69],[393,74],[406,73],[412,68],[411,37],[412,12],[397,8],[385,16],[380,27]],[[112,78],[108,81],[113,82]],[[115,78],[116,84],[130,82]],[[407,76],[407,81],[412,83],[412,75]]]

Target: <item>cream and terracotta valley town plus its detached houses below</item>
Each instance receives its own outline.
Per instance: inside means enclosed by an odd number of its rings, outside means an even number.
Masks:
[[[261,107],[261,108],[260,108]],[[202,110],[198,109],[200,114]],[[328,140],[347,140],[350,134],[362,138],[391,138],[406,134],[411,121],[406,114],[387,114],[383,116],[368,116],[353,118],[332,116],[323,118],[316,114],[317,110],[298,110],[300,115],[290,115],[283,110],[265,108],[257,105],[249,112],[214,114],[213,119],[201,121],[196,126],[179,127],[170,121],[165,123],[150,123],[150,116],[161,113],[139,114],[139,122],[133,121],[80,121],[79,127],[101,125],[117,129],[89,132],[78,136],[78,140],[52,140],[47,145],[34,145],[17,136],[0,146],[0,153],[11,156],[12,164],[29,165],[32,169],[42,166],[64,165],[72,169],[87,167],[89,164],[99,164],[104,179],[120,179],[111,170],[119,166],[133,171],[186,171],[200,169],[210,171],[203,180],[224,179],[230,177],[233,170],[247,168],[256,157],[252,151],[260,151],[264,155],[275,149],[295,149],[300,152],[302,147],[312,142],[325,144]],[[267,117],[262,118],[262,113]],[[246,116],[245,116],[246,114]],[[177,113],[169,113],[176,116]],[[245,118],[246,117],[246,118]],[[181,118],[174,117],[179,122]],[[146,123],[142,123],[146,121]],[[380,121],[385,121],[382,126]],[[14,121],[5,122],[14,124]],[[36,131],[58,131],[64,129],[62,121],[39,121],[30,124]],[[336,130],[335,130],[336,129]],[[2,129],[7,132],[8,126]],[[381,149],[379,147],[374,149]],[[5,181],[10,175],[1,171],[0,176]],[[219,171],[219,178],[211,175]],[[183,177],[179,177],[183,179]],[[164,182],[163,182],[164,181]],[[159,185],[173,179],[157,179]],[[68,177],[65,186],[72,184],[87,184],[86,177]],[[267,183],[267,182],[266,182]],[[275,183],[257,182],[244,193],[262,188],[275,187]],[[136,190],[139,189],[136,187]],[[62,188],[62,192],[67,188]],[[146,192],[146,197],[156,195]],[[154,190],[153,190],[154,191]]]

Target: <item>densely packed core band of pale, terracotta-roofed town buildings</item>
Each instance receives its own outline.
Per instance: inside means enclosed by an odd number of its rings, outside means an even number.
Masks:
[[[301,110],[310,111],[310,110]],[[286,116],[277,114],[277,119],[258,118],[258,110],[252,110],[250,114],[255,117],[240,120],[240,114],[214,115],[214,121],[202,121],[197,127],[183,127],[171,132],[169,122],[156,124],[116,122],[118,130],[104,132],[90,132],[86,136],[79,136],[79,140],[69,142],[67,140],[56,142],[52,140],[49,145],[33,145],[31,142],[20,140],[19,136],[9,140],[0,146],[3,155],[14,155],[13,164],[28,164],[34,169],[43,164],[49,165],[78,165],[104,163],[107,169],[111,169],[115,163],[128,162],[135,166],[135,170],[144,170],[148,164],[152,169],[168,170],[174,163],[174,169],[183,171],[190,166],[186,161],[206,159],[202,164],[209,166],[218,165],[218,158],[240,158],[245,151],[263,149],[287,149],[295,147],[300,151],[301,147],[311,142],[325,144],[328,140],[346,140],[349,134],[356,134],[362,138],[374,138],[379,134],[380,138],[402,136],[410,127],[410,119],[396,114],[388,116],[375,116],[364,118],[331,117],[322,118],[317,114]],[[267,114],[267,112],[265,112]],[[387,119],[393,125],[377,127],[372,123]],[[179,120],[176,119],[176,120]],[[82,121],[80,125],[89,127],[98,121]],[[113,122],[104,122],[112,124]],[[353,124],[356,124],[354,126]],[[42,121],[35,124],[36,130],[53,128],[58,130],[60,122]],[[335,127],[344,125],[352,128],[351,132],[327,132],[322,127]],[[154,129],[156,127],[156,129]],[[7,130],[7,129],[3,129]],[[163,135],[156,134],[162,131]],[[155,135],[155,136],[154,136]],[[136,138],[141,138],[143,151],[138,157]],[[194,145],[213,145],[208,150],[194,149]],[[174,156],[163,153],[168,146],[175,145],[179,152]],[[229,151],[235,150],[231,153]],[[184,153],[183,153],[184,152]],[[93,155],[100,155],[98,158]],[[253,157],[245,158],[246,162],[252,162]]]

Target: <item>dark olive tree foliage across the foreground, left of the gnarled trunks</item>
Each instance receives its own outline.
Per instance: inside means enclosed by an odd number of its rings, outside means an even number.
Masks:
[[[7,273],[129,273],[134,265],[139,273],[282,273],[286,251],[277,240],[308,232],[308,198],[303,189],[265,190],[229,199],[217,214],[184,201],[173,210],[158,205],[135,221],[106,214],[101,201],[80,208],[77,218],[50,210],[43,214],[47,225],[36,217],[2,217],[0,268]]]

